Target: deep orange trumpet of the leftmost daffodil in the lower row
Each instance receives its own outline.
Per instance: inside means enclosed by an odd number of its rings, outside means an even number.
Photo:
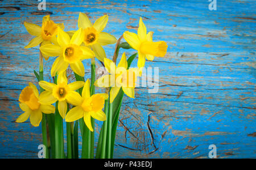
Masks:
[[[38,98],[35,96],[33,89],[27,86],[20,93],[19,101],[25,103],[31,110],[37,110],[40,107]]]

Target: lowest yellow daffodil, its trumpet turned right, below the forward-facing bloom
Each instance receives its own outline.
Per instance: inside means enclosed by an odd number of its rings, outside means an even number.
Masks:
[[[82,89],[82,96],[79,95],[76,99],[70,101],[70,103],[76,107],[69,110],[65,117],[65,121],[73,122],[84,117],[85,125],[90,131],[93,131],[90,117],[93,117],[98,121],[106,120],[106,115],[102,109],[104,107],[105,99],[108,97],[108,94],[105,93],[98,93],[90,96],[90,81],[88,79]]]

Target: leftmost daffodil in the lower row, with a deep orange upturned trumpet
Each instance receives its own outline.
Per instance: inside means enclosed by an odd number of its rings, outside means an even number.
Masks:
[[[36,86],[30,82],[19,95],[19,107],[24,113],[16,119],[16,122],[25,122],[28,117],[30,117],[31,124],[33,126],[39,126],[42,121],[42,112],[46,114],[55,112],[54,106],[39,103],[38,97],[38,89],[36,89]]]

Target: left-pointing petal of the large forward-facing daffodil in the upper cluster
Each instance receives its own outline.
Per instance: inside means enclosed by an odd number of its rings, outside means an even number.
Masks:
[[[46,56],[59,56],[62,53],[62,49],[58,45],[46,44],[40,47],[40,51]]]

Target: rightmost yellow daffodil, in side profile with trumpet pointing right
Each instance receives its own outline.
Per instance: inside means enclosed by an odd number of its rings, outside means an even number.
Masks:
[[[144,67],[146,58],[152,61],[154,60],[154,56],[164,57],[166,55],[168,45],[163,41],[153,42],[153,34],[154,32],[148,32],[147,34],[147,28],[142,22],[142,18],[139,19],[138,35],[129,31],[123,33],[123,38],[125,38],[126,42],[138,51],[139,69]]]

